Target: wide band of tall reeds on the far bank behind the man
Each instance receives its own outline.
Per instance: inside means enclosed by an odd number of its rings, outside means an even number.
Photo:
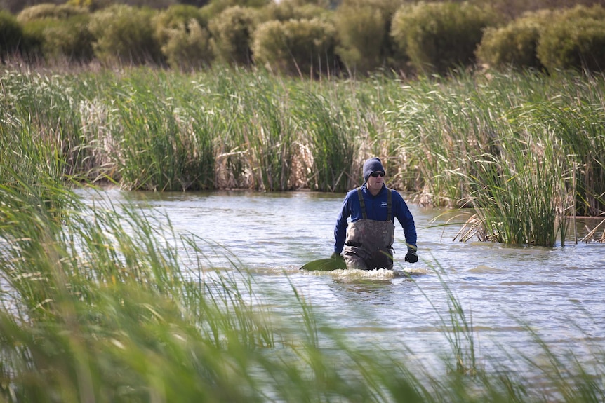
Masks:
[[[13,170],[32,184],[344,192],[380,156],[416,202],[473,208],[465,238],[554,245],[568,217],[605,210],[602,76],[8,69],[0,83],[3,183]]]

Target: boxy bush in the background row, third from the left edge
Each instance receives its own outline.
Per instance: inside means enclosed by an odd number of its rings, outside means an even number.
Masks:
[[[95,37],[95,56],[104,64],[161,63],[154,38],[154,11],[147,8],[111,6],[93,13],[90,29]]]

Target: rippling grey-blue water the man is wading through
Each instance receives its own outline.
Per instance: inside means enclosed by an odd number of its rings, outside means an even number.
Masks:
[[[279,315],[300,315],[299,306],[279,299],[293,294],[294,286],[321,320],[345,329],[360,345],[371,341],[394,352],[406,346],[419,360],[446,352],[447,288],[472,321],[479,361],[510,360],[507,353],[514,352],[538,355],[540,347],[527,326],[555,353],[569,351],[589,366],[595,348],[605,347],[603,244],[568,241],[564,247],[546,248],[460,243],[453,240],[460,224],[445,224],[464,218],[410,204],[418,231],[417,264],[404,263],[404,234],[396,223],[395,271],[309,273],[300,266],[329,257],[333,250],[333,226],[344,195],[117,190],[81,194],[87,200],[102,197],[113,203],[128,198],[145,214],[171,221],[177,233],[222,245],[251,269],[258,287],[254,292],[266,295]],[[225,265],[224,253],[208,245],[206,258],[209,264]]]

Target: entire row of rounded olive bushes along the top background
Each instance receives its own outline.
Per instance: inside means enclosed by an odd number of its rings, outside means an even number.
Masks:
[[[479,0],[216,0],[160,9],[71,1],[0,11],[0,55],[45,66],[231,64],[305,78],[444,75],[476,65],[601,71],[605,8],[583,3],[536,1],[504,13],[504,4]]]

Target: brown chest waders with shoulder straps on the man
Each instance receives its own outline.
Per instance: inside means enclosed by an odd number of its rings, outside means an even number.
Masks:
[[[391,189],[387,188],[387,221],[368,219],[366,203],[357,188],[361,217],[347,228],[347,238],[343,248],[343,257],[347,268],[372,270],[374,268],[393,268],[393,241],[395,226],[393,224]]]

